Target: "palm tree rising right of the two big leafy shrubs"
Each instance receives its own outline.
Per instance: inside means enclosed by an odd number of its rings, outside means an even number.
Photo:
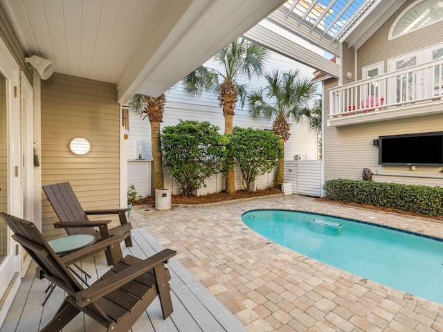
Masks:
[[[248,95],[249,114],[255,119],[261,117],[268,120],[275,118],[272,123],[273,132],[280,136],[283,156],[278,160],[275,184],[284,182],[284,142],[291,133],[291,121],[300,122],[303,113],[309,109],[309,101],[314,97],[314,84],[308,78],[300,77],[300,71],[280,74],[278,71],[266,73],[264,78],[267,86],[255,89]]]

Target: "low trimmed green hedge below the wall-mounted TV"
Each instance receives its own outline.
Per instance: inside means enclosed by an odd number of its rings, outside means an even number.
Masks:
[[[426,216],[443,216],[443,188],[363,180],[325,181],[325,198],[408,211]]]

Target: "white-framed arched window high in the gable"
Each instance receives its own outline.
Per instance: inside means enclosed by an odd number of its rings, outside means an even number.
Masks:
[[[388,39],[401,37],[442,20],[443,0],[415,1],[394,21]]]

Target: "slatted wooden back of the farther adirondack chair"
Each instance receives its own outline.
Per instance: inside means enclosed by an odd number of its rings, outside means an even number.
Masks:
[[[60,221],[89,221],[69,182],[44,185],[43,190]],[[95,234],[93,227],[66,228],[69,235]]]

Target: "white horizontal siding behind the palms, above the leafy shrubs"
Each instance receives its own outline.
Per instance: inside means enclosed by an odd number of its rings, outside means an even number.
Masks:
[[[213,60],[206,62],[205,66],[210,68],[218,68]],[[269,61],[266,63],[266,71],[280,70],[287,72],[300,69],[301,75],[312,77],[313,70],[307,66],[302,66],[293,60],[271,53]],[[247,84],[249,89],[259,89],[266,83],[263,77],[253,77],[251,81],[245,77],[240,77],[239,84]],[[200,122],[209,121],[211,124],[219,127],[219,132],[224,132],[224,116],[219,106],[217,95],[213,93],[202,93],[197,98],[190,98],[183,93],[181,84],[176,84],[172,89],[166,91],[165,112],[163,113],[163,123],[161,127],[174,126],[179,120],[197,120]],[[152,159],[151,151],[151,128],[147,118],[142,120],[140,115],[130,113],[130,124],[127,140],[127,160],[134,160],[134,142],[136,140],[145,140],[145,158]],[[235,107],[235,116],[233,117],[234,126],[238,127],[254,127],[258,129],[271,129],[272,120],[253,120],[248,115],[246,105],[242,107],[239,102]],[[306,154],[308,158],[316,158],[316,134],[309,131],[307,127],[293,124],[291,127],[291,138],[285,145],[288,158],[293,158],[294,154]],[[138,158],[136,156],[136,158]],[[241,184],[241,182],[240,182]]]

